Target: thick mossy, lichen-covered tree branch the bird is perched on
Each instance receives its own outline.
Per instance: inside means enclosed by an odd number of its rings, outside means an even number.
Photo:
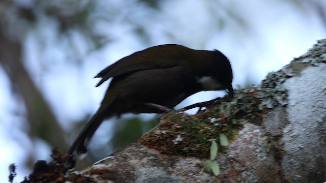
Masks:
[[[239,88],[232,102],[222,100],[196,115],[165,115],[138,143],[83,171],[73,172],[66,180],[324,182],[325,58],[326,40],[320,40],[290,65],[270,73],[260,86]],[[201,122],[193,125],[195,121]],[[215,159],[221,170],[218,176],[203,171],[203,164],[209,159],[207,142],[219,141],[216,129],[226,134],[230,142],[227,147],[220,145]],[[194,135],[188,135],[194,131]],[[213,134],[206,135],[210,131]]]

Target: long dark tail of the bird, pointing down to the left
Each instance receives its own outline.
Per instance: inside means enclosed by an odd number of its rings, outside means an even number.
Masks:
[[[65,166],[67,168],[73,168],[75,166],[76,158],[83,159],[87,155],[87,145],[91,138],[93,137],[97,128],[101,125],[105,118],[110,118],[114,114],[108,113],[107,110],[102,110],[101,108],[92,116],[88,121],[86,126],[83,128],[82,132],[79,133],[76,140],[71,145],[68,150],[68,156],[65,159]]]

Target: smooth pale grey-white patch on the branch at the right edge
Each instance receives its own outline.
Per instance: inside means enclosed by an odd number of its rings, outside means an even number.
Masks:
[[[286,108],[290,124],[283,129],[287,155],[283,173],[293,182],[322,182],[320,175],[326,174],[326,64],[306,68],[284,86],[292,105]]]

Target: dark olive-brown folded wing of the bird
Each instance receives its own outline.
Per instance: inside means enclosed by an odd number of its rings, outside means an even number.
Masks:
[[[182,46],[182,48],[185,47]],[[95,77],[102,79],[96,86],[101,85],[104,81],[111,77],[127,73],[132,73],[140,70],[175,67],[179,65],[179,61],[182,59],[184,58],[182,54],[180,54],[180,47],[175,46],[172,46],[171,48],[164,47],[163,49],[155,49],[155,47],[152,47],[143,51],[138,51],[129,56],[121,58],[113,65],[108,66],[100,73],[98,73]]]

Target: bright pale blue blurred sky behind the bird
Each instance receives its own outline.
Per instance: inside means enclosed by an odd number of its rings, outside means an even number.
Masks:
[[[236,84],[246,85],[248,80],[252,84],[259,84],[268,72],[281,69],[293,57],[307,52],[317,40],[325,38],[325,25],[316,14],[309,8],[296,8],[287,1],[219,1],[214,6],[202,2],[204,1],[165,1],[160,4],[159,13],[145,11],[142,6],[132,4],[134,7],[130,10],[119,12],[113,23],[94,24],[98,34],[114,40],[94,52],[88,50],[88,42],[78,32],[71,32],[70,42],[60,36],[58,39],[55,31],[58,28],[57,22],[43,17],[38,27],[26,35],[25,67],[51,104],[61,125],[64,129],[69,129],[72,124],[65,121],[76,121],[91,115],[104,95],[108,83],[95,88],[98,79],[93,77],[106,66],[135,51],[169,43],[194,49],[218,49],[231,62],[235,87]],[[105,7],[106,3],[99,1],[99,6]],[[124,7],[119,1],[110,3],[110,6],[117,9]],[[212,22],[210,13],[217,14],[221,19],[230,16],[225,11],[219,11],[218,8],[222,5],[246,20],[249,28],[245,29],[230,19],[224,22],[220,32],[213,32],[212,29],[216,29],[219,24]],[[103,8],[102,11],[106,10]],[[147,16],[152,18],[147,19]],[[135,35],[132,26],[125,21],[126,18],[137,19],[150,35],[150,41],[144,42]],[[74,51],[67,49],[71,43]],[[76,67],[75,63],[67,62],[71,57],[77,57],[82,64]],[[36,139],[36,147],[31,148],[32,142],[26,135],[29,127],[25,125],[24,109],[18,114],[14,113],[22,104],[13,98],[9,80],[2,68],[0,83],[3,85],[0,90],[0,181],[8,181],[8,165],[15,163],[18,166],[15,180],[18,182],[30,171],[23,166],[26,161],[24,151],[34,152],[38,159],[48,160],[50,147]],[[225,94],[196,94],[177,108]],[[109,123],[105,125],[110,128]],[[107,131],[107,128],[99,129],[99,134]]]

